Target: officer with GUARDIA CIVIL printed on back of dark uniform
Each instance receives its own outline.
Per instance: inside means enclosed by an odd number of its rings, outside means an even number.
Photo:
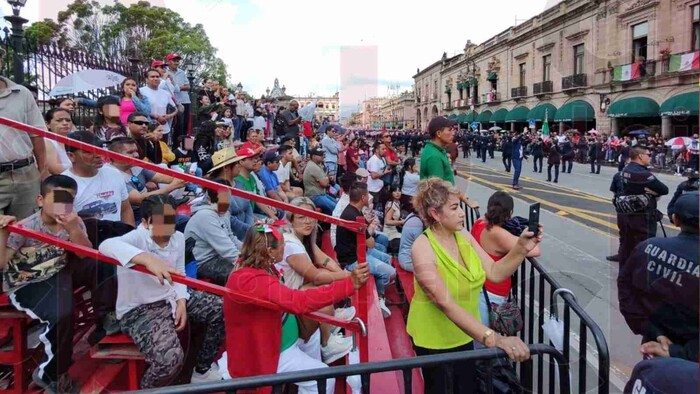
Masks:
[[[620,312],[646,356],[698,361],[699,204],[698,192],[681,195],[673,214],[680,234],[641,242],[620,269]]]

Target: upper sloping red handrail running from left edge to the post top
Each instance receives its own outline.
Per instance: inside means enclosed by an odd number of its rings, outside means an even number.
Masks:
[[[39,128],[36,128],[33,126],[29,126],[29,125],[26,125],[24,123],[20,123],[20,122],[17,122],[17,121],[14,121],[12,119],[8,119],[8,118],[2,117],[2,116],[0,116],[0,124],[15,128],[18,130],[26,131],[28,133],[37,134],[37,135],[42,136],[44,138],[58,141],[62,144],[72,146],[74,148],[78,148],[80,150],[84,150],[84,151],[87,151],[90,153],[95,153],[95,154],[98,154],[100,156],[108,157],[108,158],[113,159],[113,160],[126,162],[126,163],[132,164],[132,165],[137,166],[137,167],[146,168],[146,169],[149,169],[151,171],[155,171],[155,172],[158,172],[161,174],[171,176],[173,178],[182,179],[183,181],[187,181],[189,183],[196,183],[196,184],[203,186],[205,188],[208,188],[208,189],[222,190],[222,191],[228,190],[234,196],[242,197],[242,198],[245,198],[245,199],[248,199],[251,201],[255,201],[257,203],[270,205],[270,206],[273,206],[275,208],[279,208],[279,209],[283,209],[285,211],[293,212],[295,214],[305,215],[305,216],[314,218],[316,220],[321,220],[321,221],[324,221],[327,223],[335,224],[337,226],[342,226],[342,227],[345,227],[348,230],[351,230],[351,231],[356,232],[356,233],[363,233],[365,231],[365,226],[360,226],[360,225],[358,225],[358,223],[353,222],[353,221],[343,220],[340,218],[335,218],[333,216],[324,215],[322,213],[318,213],[318,212],[315,212],[315,211],[312,211],[309,209],[295,207],[293,205],[289,205],[289,204],[283,203],[281,201],[273,200],[273,199],[268,198],[268,197],[262,197],[262,196],[259,196],[257,194],[254,194],[254,193],[249,193],[249,192],[244,191],[244,190],[236,189],[233,186],[221,185],[221,184],[212,182],[209,179],[198,178],[196,176],[186,174],[184,172],[178,172],[178,171],[171,170],[170,168],[163,168],[163,167],[160,167],[160,166],[155,165],[153,163],[142,161],[140,159],[134,159],[133,157],[125,156],[125,155],[122,155],[121,153],[112,152],[110,150],[106,150],[106,149],[103,149],[103,148],[100,148],[100,147],[97,147],[94,145],[86,144],[86,143],[81,142],[81,141],[76,141],[74,139],[64,137],[62,135],[54,134],[50,131],[46,131],[46,130],[42,130],[42,129],[39,129]]]

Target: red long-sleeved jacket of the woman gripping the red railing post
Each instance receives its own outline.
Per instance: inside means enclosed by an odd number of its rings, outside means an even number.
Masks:
[[[277,274],[277,271],[274,272]],[[281,309],[269,309],[224,297],[228,371],[233,378],[277,373],[283,312],[294,315],[314,312],[355,292],[350,277],[326,286],[292,290],[281,284],[276,275],[255,268],[241,268],[233,272],[226,287]],[[267,394],[272,389],[259,388],[255,392]]]

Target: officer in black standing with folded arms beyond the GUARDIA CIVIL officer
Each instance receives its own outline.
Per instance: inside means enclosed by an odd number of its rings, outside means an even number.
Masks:
[[[630,149],[630,162],[622,170],[622,187],[624,196],[649,193],[656,197],[668,194],[668,186],[664,185],[647,166],[651,161],[649,149],[638,144]],[[656,223],[661,219],[656,209],[656,199],[652,206],[635,213],[620,215],[620,264],[624,265],[627,257],[638,243],[656,236]]]

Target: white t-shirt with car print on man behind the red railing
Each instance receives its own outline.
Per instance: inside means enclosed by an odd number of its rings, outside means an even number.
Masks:
[[[72,168],[63,172],[78,183],[73,207],[81,216],[120,222],[122,201],[129,198],[126,183],[121,173],[114,168],[102,167],[92,178],[84,178],[73,173]]]

